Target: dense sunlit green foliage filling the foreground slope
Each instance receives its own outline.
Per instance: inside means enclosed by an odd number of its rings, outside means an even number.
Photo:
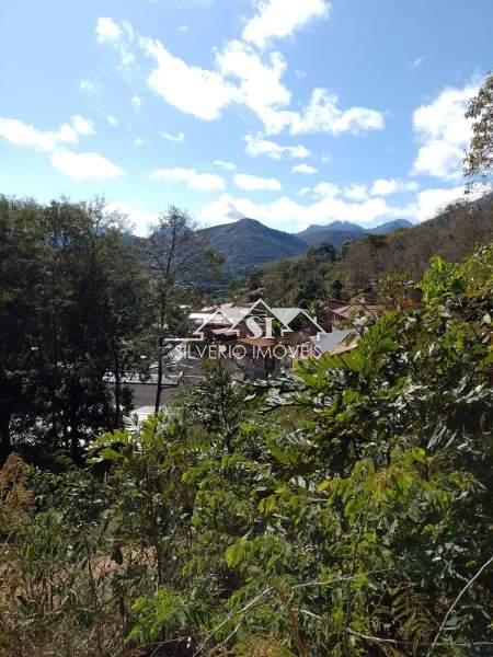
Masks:
[[[493,247],[253,387],[218,365],[85,469],[0,474],[5,654],[492,655]]]

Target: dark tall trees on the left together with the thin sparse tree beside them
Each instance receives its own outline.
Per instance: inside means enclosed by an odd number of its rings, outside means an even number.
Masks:
[[[0,196],[0,462],[78,461],[133,407],[125,373],[162,377],[195,295],[175,283],[217,258],[176,208],[137,244],[122,221],[102,200]]]

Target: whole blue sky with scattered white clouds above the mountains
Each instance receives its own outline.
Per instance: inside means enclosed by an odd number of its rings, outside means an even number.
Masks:
[[[0,0],[0,193],[283,230],[462,194],[491,0]]]

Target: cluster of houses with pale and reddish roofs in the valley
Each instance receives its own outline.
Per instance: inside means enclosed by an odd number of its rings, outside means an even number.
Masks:
[[[302,308],[271,308],[259,299],[252,306],[221,303],[190,312],[192,334],[169,345],[162,402],[165,405],[182,382],[202,378],[202,361],[210,355],[234,368],[237,377],[257,380],[287,373],[308,357],[351,351],[358,344],[362,319],[376,319],[380,311],[364,301],[328,299],[318,319]],[[134,392],[139,418],[153,411],[157,380],[157,364],[145,376],[129,373],[123,380]]]

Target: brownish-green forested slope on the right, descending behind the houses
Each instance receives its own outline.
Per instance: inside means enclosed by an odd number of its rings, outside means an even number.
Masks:
[[[359,293],[377,297],[379,283],[389,276],[419,280],[434,255],[457,262],[478,245],[493,240],[493,203],[461,203],[412,228],[388,234],[367,234],[346,242],[313,246],[303,256],[271,263],[246,280],[231,285],[233,295],[255,296],[262,290],[275,304],[309,306],[335,297]]]

